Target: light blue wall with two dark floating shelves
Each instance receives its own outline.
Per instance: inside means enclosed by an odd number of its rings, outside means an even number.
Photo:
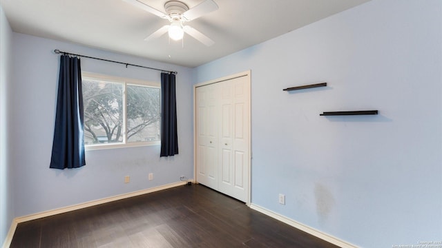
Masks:
[[[418,245],[442,239],[441,44],[442,1],[374,0],[202,65],[196,83],[251,69],[253,204],[361,247]],[[380,114],[319,116],[339,110]]]

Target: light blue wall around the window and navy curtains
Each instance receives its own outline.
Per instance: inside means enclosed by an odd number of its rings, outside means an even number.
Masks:
[[[90,200],[177,183],[193,178],[192,70],[80,45],[13,33],[12,124],[10,162],[14,166],[15,216],[26,216]],[[59,55],[53,50],[85,54],[177,71],[180,154],[160,159],[160,146],[86,151],[86,166],[49,169],[54,132]],[[86,72],[160,82],[160,72],[106,61],[81,59]],[[148,173],[154,180],[148,180]],[[124,176],[131,183],[124,183]]]

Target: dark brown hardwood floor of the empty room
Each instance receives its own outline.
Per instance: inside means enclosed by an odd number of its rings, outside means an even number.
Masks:
[[[10,247],[336,247],[204,187],[20,223]]]

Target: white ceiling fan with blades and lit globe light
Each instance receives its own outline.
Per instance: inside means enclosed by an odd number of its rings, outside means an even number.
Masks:
[[[175,41],[182,39],[184,33],[186,33],[206,46],[211,46],[215,43],[200,31],[195,30],[195,28],[192,28],[189,25],[184,25],[186,21],[192,21],[198,17],[202,17],[204,14],[218,10],[218,5],[213,0],[204,0],[197,6],[190,9],[186,3],[183,3],[182,1],[167,1],[164,3],[164,10],[166,10],[166,12],[152,8],[140,0],[123,1],[132,3],[138,8],[151,12],[162,19],[168,19],[171,22],[170,25],[164,25],[159,30],[153,32],[151,35],[146,37],[144,41],[151,41],[153,39],[160,38],[163,34],[169,32],[169,37]]]

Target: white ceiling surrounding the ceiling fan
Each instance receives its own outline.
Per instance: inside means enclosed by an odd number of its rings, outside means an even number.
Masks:
[[[167,0],[142,1],[164,11]],[[192,8],[202,0],[182,1]],[[186,23],[213,39],[215,45],[206,47],[185,34],[184,48],[181,41],[169,43],[167,34],[144,41],[169,21],[122,0],[0,0],[0,3],[14,32],[193,68],[367,1],[215,0],[218,10]]]

